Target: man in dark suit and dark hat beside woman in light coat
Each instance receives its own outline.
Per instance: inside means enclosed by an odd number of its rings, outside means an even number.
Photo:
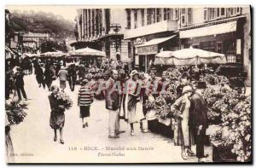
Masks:
[[[189,127],[195,136],[196,157],[200,162],[205,162],[208,154],[204,154],[204,143],[208,127],[207,107],[203,99],[203,93],[207,88],[205,82],[198,82],[195,94],[191,97],[189,110]]]

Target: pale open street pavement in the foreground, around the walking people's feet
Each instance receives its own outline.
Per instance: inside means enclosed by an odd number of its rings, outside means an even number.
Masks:
[[[108,111],[104,101],[93,102],[89,127],[82,128],[77,106],[79,86],[71,92],[68,84],[66,92],[73,99],[73,107],[66,111],[65,144],[60,143],[59,134],[54,142],[54,131],[49,127],[49,91],[38,88],[34,75],[25,76],[24,80],[31,100],[27,101],[26,119],[12,126],[11,130],[16,163],[115,163],[117,158],[113,156],[119,156],[125,163],[197,162],[196,158],[183,160],[180,147],[174,146],[172,139],[140,132],[139,124],[135,125],[136,135],[130,136],[130,126],[121,120],[121,129],[125,133],[119,139],[109,139]],[[58,80],[54,84],[59,85]],[[206,148],[206,153],[211,153],[211,148]]]

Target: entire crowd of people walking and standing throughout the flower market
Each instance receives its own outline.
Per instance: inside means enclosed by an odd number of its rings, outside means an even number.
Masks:
[[[176,84],[177,81],[172,81],[172,78],[168,78],[166,71],[159,78],[156,76],[155,69],[152,69],[149,74],[137,72],[137,70],[132,70],[129,74],[129,71],[125,71],[124,68],[120,67],[119,62],[116,64],[113,62],[112,64],[116,65],[116,67],[112,67],[109,70],[109,64],[102,64],[104,68],[99,69],[96,67],[84,67],[83,64],[56,67],[47,62],[44,66],[37,61],[33,62],[39,87],[45,87],[46,85],[51,91],[49,95],[51,109],[49,125],[55,133],[54,141],[57,140],[57,130],[60,130],[60,142],[64,144],[65,108],[58,104],[56,95],[59,91],[65,91],[67,82],[72,91],[74,91],[76,84],[81,84],[78,93],[78,106],[83,128],[89,126],[90,106],[94,102],[94,96],[102,94],[105,97],[106,108],[109,112],[109,138],[119,138],[119,134],[125,133],[125,130],[120,130],[120,119],[125,119],[130,125],[131,136],[136,134],[134,129],[136,123],[140,124],[140,129],[143,133],[148,132],[148,111],[143,105],[148,99],[152,97],[156,99],[158,96],[164,95],[166,90],[170,91],[170,88],[173,87],[172,84]],[[7,74],[9,76],[7,78],[15,78],[15,87],[19,99],[21,99],[21,94],[26,99],[26,91],[23,87],[24,72],[21,68],[17,68],[15,75],[12,75],[12,71],[13,69],[8,69]],[[182,78],[176,84],[175,90],[172,90],[173,94],[177,96],[175,96],[175,99],[166,100],[172,104],[172,118],[176,120],[177,124],[177,127],[174,128],[174,140],[176,145],[182,147],[183,159],[196,155],[202,160],[207,157],[204,154],[204,140],[208,125],[207,108],[202,97],[207,85],[204,82],[194,81],[193,83],[184,69],[181,72],[183,72]],[[97,73],[102,74],[101,78],[97,78]],[[52,82],[56,78],[59,78],[60,87],[52,86]],[[6,84],[6,86],[8,87],[9,84]],[[196,154],[191,150],[191,145],[194,144],[194,141]]]

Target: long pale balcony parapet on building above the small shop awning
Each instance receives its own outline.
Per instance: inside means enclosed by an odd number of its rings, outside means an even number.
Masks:
[[[177,20],[164,20],[148,26],[141,26],[136,29],[126,30],[125,39],[142,37],[157,32],[175,32],[177,31]]]

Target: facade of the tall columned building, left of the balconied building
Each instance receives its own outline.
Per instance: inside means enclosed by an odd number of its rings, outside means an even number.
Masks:
[[[130,61],[125,20],[125,9],[78,9],[77,42],[72,46],[102,50],[108,58]]]

